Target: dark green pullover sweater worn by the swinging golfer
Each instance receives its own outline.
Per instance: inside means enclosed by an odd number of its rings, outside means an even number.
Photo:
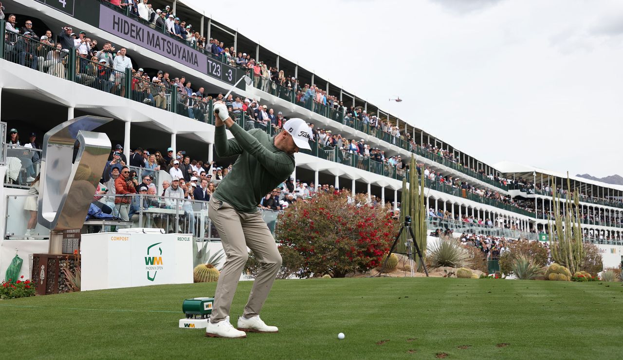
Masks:
[[[214,130],[216,154],[239,157],[213,196],[239,212],[257,212],[262,197],[292,174],[294,157],[275,147],[274,137],[260,129],[247,132],[234,123],[229,128],[234,139],[227,140],[225,128],[223,125]]]

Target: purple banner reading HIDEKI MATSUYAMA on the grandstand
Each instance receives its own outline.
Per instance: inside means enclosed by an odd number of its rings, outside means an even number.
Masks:
[[[103,5],[100,5],[100,29],[166,56],[202,74],[207,71],[207,57],[201,52]]]

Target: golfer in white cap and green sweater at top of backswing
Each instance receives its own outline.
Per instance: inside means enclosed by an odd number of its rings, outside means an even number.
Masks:
[[[214,309],[206,335],[218,338],[245,338],[245,331],[277,333],[260,319],[275,276],[281,266],[277,244],[262,215],[257,210],[260,199],[294,171],[294,153],[310,149],[309,127],[301,119],[290,119],[283,130],[269,137],[260,129],[245,131],[229,117],[226,105],[214,105],[216,130],[214,146],[219,157],[239,155],[232,171],[212,195],[208,217],[216,226],[227,260],[219,276],[214,295]],[[225,125],[225,126],[223,126]],[[234,135],[227,140],[225,127]],[[238,329],[229,323],[229,308],[238,280],[247,262],[247,246],[261,264],[249,301],[238,319]]]

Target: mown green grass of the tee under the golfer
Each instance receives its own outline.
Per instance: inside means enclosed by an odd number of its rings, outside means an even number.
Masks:
[[[234,326],[251,285],[240,282]],[[623,354],[621,283],[281,280],[262,312],[267,323],[279,326],[278,334],[213,339],[201,329],[179,329],[182,300],[212,296],[214,288],[212,283],[164,285],[0,301],[2,358],[434,359],[445,353],[449,359],[614,359]],[[337,339],[340,332],[346,339]]]

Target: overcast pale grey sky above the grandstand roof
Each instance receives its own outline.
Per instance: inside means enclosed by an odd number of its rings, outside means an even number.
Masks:
[[[623,1],[184,2],[489,165],[623,175]]]

